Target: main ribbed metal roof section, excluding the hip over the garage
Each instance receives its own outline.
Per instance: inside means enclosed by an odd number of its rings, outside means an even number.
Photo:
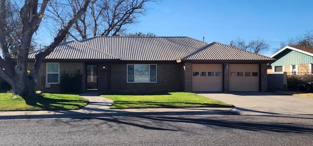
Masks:
[[[175,61],[206,44],[188,37],[98,36],[60,44],[45,59]],[[34,59],[39,51],[30,52],[28,58]]]

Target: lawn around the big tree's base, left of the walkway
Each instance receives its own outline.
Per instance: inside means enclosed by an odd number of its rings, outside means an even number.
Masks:
[[[44,93],[40,98],[22,98],[0,93],[0,111],[79,109],[88,103],[87,99],[75,94]]]

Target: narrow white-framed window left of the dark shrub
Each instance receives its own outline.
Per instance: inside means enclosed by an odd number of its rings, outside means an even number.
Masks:
[[[47,83],[59,83],[59,63],[47,63]]]

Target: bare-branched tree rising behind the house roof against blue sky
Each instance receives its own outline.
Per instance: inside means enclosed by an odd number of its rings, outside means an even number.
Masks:
[[[81,0],[68,0],[70,5],[60,5],[61,0],[53,0],[53,6],[47,11],[52,19],[59,25],[64,25],[64,20],[75,14],[81,6]],[[115,36],[125,34],[129,25],[137,23],[138,18],[144,15],[148,2],[159,0],[91,0],[88,11],[75,22],[74,27],[68,32],[69,39],[85,40],[90,37]],[[67,7],[58,11],[55,7]]]

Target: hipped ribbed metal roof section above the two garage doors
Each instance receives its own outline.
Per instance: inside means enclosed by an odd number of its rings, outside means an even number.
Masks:
[[[204,47],[181,57],[180,60],[274,61],[272,58],[218,42],[211,42]]]

